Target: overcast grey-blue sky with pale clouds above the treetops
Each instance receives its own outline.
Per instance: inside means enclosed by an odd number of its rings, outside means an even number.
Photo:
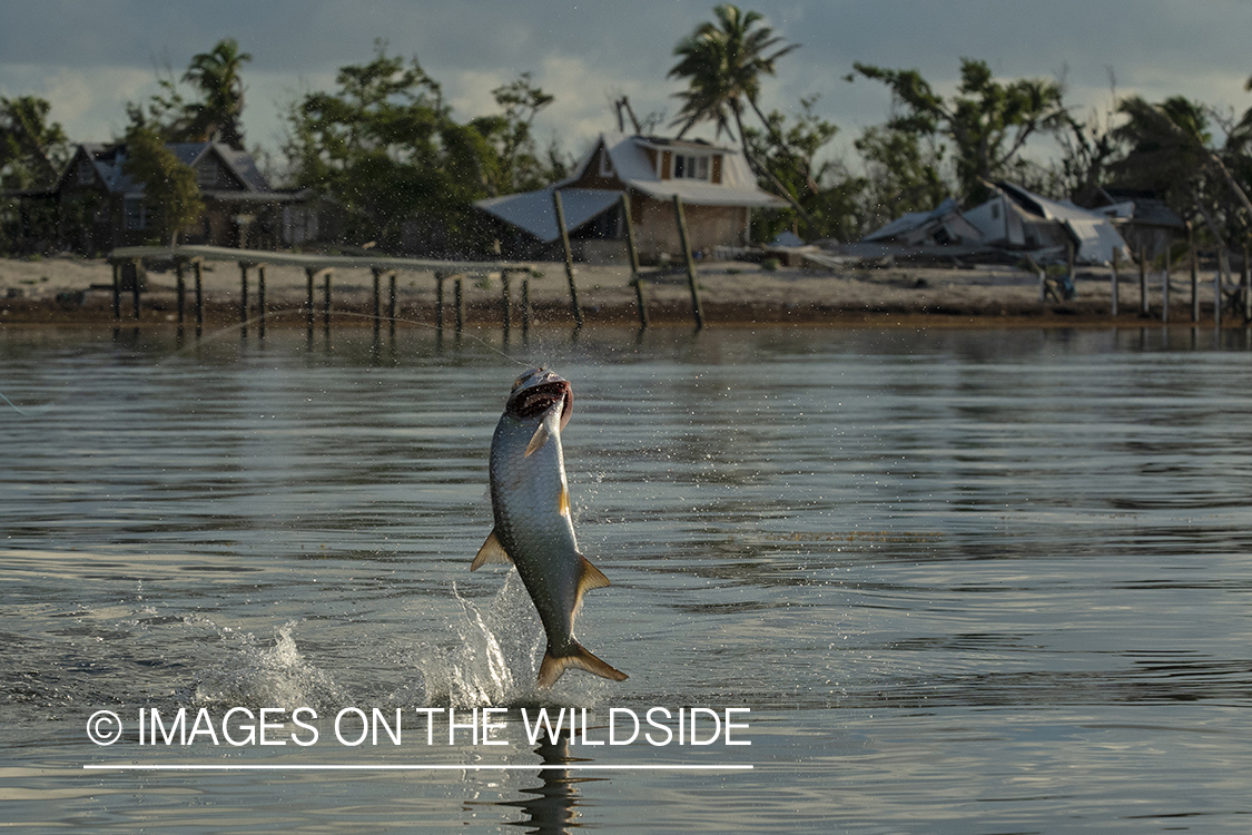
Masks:
[[[677,110],[665,78],[675,43],[711,18],[710,0],[0,0],[0,95],[39,95],[76,141],[108,140],[125,103],[155,91],[154,66],[178,75],[192,55],[232,36],[252,53],[244,68],[249,145],[277,150],[280,110],[302,90],[334,89],[339,66],[368,61],[374,40],[416,56],[442,83],[459,119],[492,111],[491,90],[528,71],[556,103],[537,121],[581,153],[616,128],[610,99],[626,94],[640,115]],[[1000,78],[1064,74],[1067,101],[1108,109],[1119,94],[1183,94],[1242,113],[1252,106],[1252,0],[752,0],[777,34],[801,49],[767,80],[766,109],[819,111],[850,143],[888,116],[881,84],[843,80],[854,61],[916,68],[942,90],[962,56]]]

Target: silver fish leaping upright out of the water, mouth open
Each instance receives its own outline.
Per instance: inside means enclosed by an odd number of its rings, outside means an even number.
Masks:
[[[547,635],[541,687],[555,684],[568,667],[626,679],[573,637],[583,592],[607,586],[608,580],[578,552],[570,521],[561,431],[572,407],[570,383],[555,372],[532,369],[513,383],[491,441],[496,526],[470,567],[488,562],[517,567]]]

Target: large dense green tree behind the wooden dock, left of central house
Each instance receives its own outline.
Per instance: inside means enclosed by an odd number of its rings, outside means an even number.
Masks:
[[[503,113],[464,124],[417,60],[388,55],[382,41],[373,60],[341,68],[336,80],[338,90],[292,104],[284,150],[299,185],[343,208],[346,240],[485,245],[473,202],[547,182],[531,120],[552,96],[528,75],[496,89]]]

